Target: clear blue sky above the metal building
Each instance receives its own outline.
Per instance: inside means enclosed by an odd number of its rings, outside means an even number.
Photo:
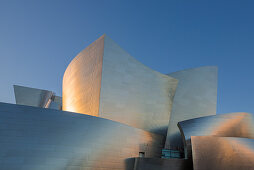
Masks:
[[[217,65],[218,113],[254,113],[253,0],[0,0],[0,101],[14,103],[13,84],[61,95],[104,33],[162,73]]]

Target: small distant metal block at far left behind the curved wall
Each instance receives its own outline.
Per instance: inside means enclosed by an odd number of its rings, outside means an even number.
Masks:
[[[61,110],[62,98],[52,91],[14,85],[16,104]]]

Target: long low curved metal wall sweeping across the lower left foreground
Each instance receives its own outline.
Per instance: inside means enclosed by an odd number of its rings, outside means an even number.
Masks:
[[[111,120],[0,103],[0,169],[128,169],[126,159],[159,157],[163,137]]]

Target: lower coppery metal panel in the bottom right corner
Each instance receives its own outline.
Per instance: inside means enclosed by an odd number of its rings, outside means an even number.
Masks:
[[[253,170],[254,140],[192,136],[194,170]]]

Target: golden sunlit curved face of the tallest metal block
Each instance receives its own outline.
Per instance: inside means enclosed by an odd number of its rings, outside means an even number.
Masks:
[[[63,110],[98,116],[104,36],[81,51],[63,77]]]

